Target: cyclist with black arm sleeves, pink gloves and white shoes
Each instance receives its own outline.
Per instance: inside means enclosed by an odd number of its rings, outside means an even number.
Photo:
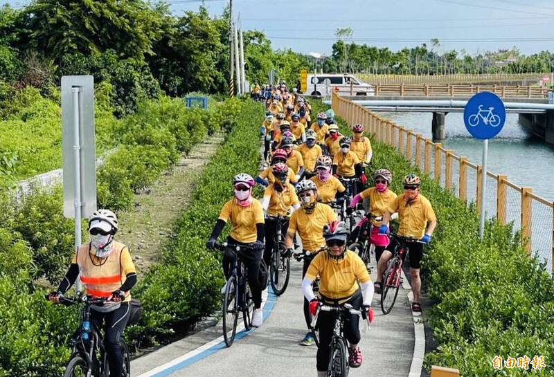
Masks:
[[[248,284],[254,301],[252,326],[260,327],[262,324],[262,288],[265,287],[260,286],[258,273],[264,248],[264,212],[260,202],[252,196],[254,178],[245,173],[237,174],[233,178],[233,186],[235,187],[235,197],[223,206],[212,235],[206,243],[206,248],[212,249],[215,247],[217,237],[221,234],[226,222],[231,219],[231,235],[227,237],[227,242],[233,245],[251,246],[251,249],[241,250],[238,257],[242,259],[244,266],[247,268]],[[234,260],[233,251],[225,250],[223,273],[228,281],[231,277]],[[223,286],[222,293],[225,292],[226,285],[227,283]]]

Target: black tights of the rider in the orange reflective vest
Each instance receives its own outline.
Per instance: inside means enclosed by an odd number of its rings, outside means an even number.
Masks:
[[[128,320],[129,302],[122,302],[118,309],[109,313],[91,311],[91,324],[100,329],[102,322],[104,323],[104,347],[108,356],[110,376],[123,376],[123,355],[119,341]]]

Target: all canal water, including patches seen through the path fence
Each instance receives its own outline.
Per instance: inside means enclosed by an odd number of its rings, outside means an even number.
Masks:
[[[412,129],[425,138],[432,138],[432,113],[381,113],[397,125]],[[554,147],[540,138],[528,134],[519,123],[517,114],[506,114],[506,124],[488,146],[487,170],[494,174],[506,174],[508,181],[519,187],[532,187],[533,193],[546,201],[554,201]],[[443,147],[452,149],[458,156],[466,156],[476,165],[481,165],[483,141],[472,138],[463,124],[463,113],[449,113],[445,118],[446,140]],[[456,164],[454,164],[456,165]],[[432,169],[432,165],[431,165]],[[475,200],[474,169],[467,172],[467,199]],[[443,173],[444,174],[444,173]],[[456,180],[456,178],[454,178]],[[456,183],[456,181],[455,181]],[[506,204],[507,221],[515,228],[521,226],[521,196],[508,187]],[[485,217],[496,216],[496,181],[489,177],[485,192]],[[552,223],[553,211],[542,203],[533,201],[531,249],[533,255],[546,261],[546,270],[552,270]]]

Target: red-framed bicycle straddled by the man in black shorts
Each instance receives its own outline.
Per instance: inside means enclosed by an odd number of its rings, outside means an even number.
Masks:
[[[381,311],[383,314],[391,313],[396,302],[400,283],[402,282],[402,261],[409,253],[409,248],[406,246],[406,243],[422,243],[419,239],[411,236],[403,237],[392,232],[388,233],[388,237],[395,239],[398,245],[395,247],[393,257],[388,261],[387,268],[383,275],[381,289]]]

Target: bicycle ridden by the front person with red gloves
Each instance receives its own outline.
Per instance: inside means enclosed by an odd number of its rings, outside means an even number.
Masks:
[[[364,316],[361,311],[354,309],[350,304],[343,304],[340,306],[320,304],[319,311],[332,311],[335,313],[327,375],[332,377],[346,377],[350,371],[350,365],[348,364],[348,340],[346,340],[343,335],[344,322],[349,314],[360,315],[364,320],[369,320],[366,315]]]

